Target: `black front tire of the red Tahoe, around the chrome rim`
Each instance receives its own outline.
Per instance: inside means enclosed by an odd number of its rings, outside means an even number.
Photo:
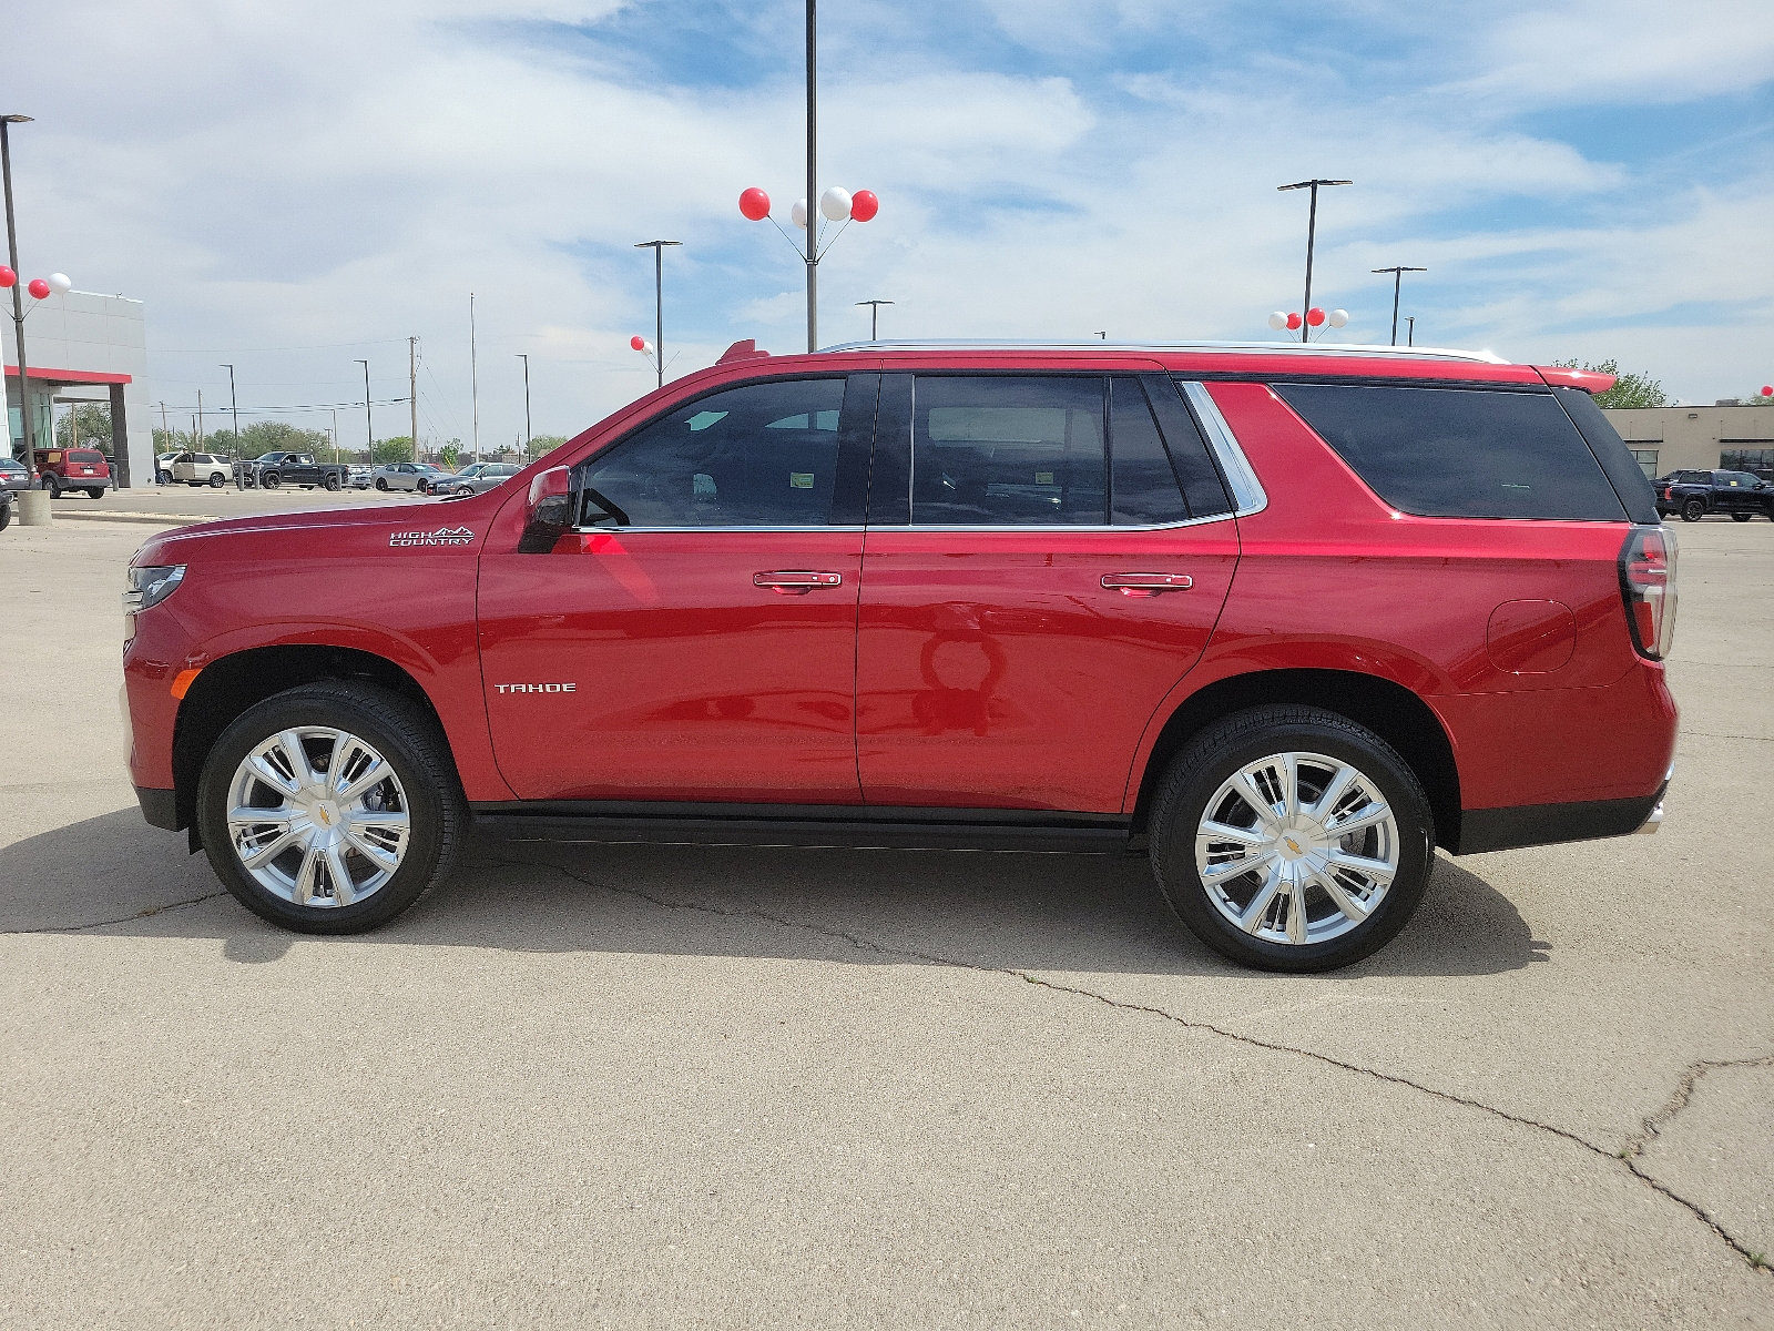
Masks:
[[[254,878],[229,838],[227,800],[236,767],[291,726],[334,726],[362,736],[394,768],[412,818],[406,854],[385,886],[344,907],[286,902]],[[328,680],[268,697],[234,721],[209,749],[197,783],[197,829],[222,884],[254,914],[298,933],[362,933],[389,923],[456,868],[468,807],[449,744],[420,706],[369,683]]]

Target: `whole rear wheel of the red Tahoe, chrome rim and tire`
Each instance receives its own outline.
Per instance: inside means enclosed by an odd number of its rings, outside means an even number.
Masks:
[[[1215,951],[1332,971],[1385,946],[1435,862],[1428,797],[1378,735],[1334,712],[1260,706],[1203,731],[1153,804],[1158,889]]]

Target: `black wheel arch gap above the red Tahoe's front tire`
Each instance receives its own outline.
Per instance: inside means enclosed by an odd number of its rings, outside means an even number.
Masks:
[[[222,731],[266,697],[321,680],[362,680],[413,701],[431,717],[449,752],[449,731],[431,696],[419,680],[387,657],[312,642],[229,653],[204,666],[179,703],[172,726],[174,802],[179,825],[190,834],[192,850],[202,845],[197,832],[197,781]]]

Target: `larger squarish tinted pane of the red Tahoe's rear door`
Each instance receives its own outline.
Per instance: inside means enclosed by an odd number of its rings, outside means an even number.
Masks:
[[[1096,376],[919,376],[912,524],[1103,525],[1107,454]]]

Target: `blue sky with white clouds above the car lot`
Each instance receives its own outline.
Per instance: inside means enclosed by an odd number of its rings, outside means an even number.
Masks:
[[[1685,403],[1774,380],[1765,0],[823,0],[820,188],[880,215],[820,263],[821,344],[1387,343],[1618,360]],[[733,341],[805,350],[773,215],[805,190],[798,0],[9,0],[25,277],[145,302],[169,413],[573,435]],[[60,53],[60,55],[57,55]],[[830,234],[828,234],[830,240]],[[470,293],[479,421],[470,390]],[[27,325],[28,327],[28,325]],[[1403,330],[1400,332],[1403,341]],[[11,358],[11,351],[9,351]]]

